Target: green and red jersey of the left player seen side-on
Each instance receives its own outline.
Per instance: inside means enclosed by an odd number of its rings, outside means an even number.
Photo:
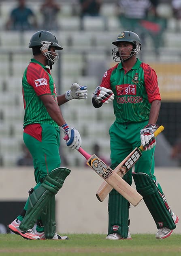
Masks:
[[[57,102],[56,88],[50,69],[31,59],[23,74],[22,85],[25,109],[23,127],[25,128],[28,124],[52,124],[58,127],[40,100],[41,95],[51,94]]]

